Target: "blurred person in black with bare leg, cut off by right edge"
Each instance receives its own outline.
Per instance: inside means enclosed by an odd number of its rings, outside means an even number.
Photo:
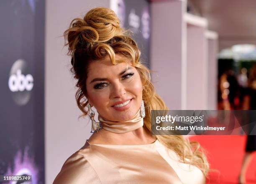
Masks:
[[[249,74],[247,93],[243,100],[243,110],[256,110],[256,64],[253,65]],[[240,184],[246,183],[246,170],[252,159],[252,153],[256,151],[256,135],[247,136],[245,151],[238,178]]]

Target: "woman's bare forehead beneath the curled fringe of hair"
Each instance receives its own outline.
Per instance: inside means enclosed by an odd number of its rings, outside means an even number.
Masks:
[[[123,69],[131,66],[131,62],[127,61],[126,59],[121,59],[120,57],[119,58],[117,57],[117,59],[123,62],[112,64],[109,57],[103,60],[92,61],[87,70],[88,71],[87,77],[93,78],[93,77],[104,77],[106,75],[115,75],[115,74],[119,74]]]

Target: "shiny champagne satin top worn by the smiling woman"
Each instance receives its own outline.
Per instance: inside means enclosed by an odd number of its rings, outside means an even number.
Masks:
[[[70,156],[54,184],[204,184],[200,169],[179,162],[158,140],[145,145],[87,141]]]

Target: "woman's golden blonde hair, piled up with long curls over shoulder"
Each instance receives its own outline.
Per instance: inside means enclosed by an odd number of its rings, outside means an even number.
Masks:
[[[150,81],[150,73],[146,66],[141,64],[141,52],[137,43],[120,28],[117,15],[109,8],[94,8],[83,19],[72,20],[69,29],[64,32],[67,39],[65,45],[69,46],[68,54],[72,56],[72,72],[77,79],[76,100],[83,116],[88,114],[86,99],[87,68],[94,60],[109,56],[113,64],[121,61],[115,60],[115,54],[131,61],[140,74],[143,84],[142,98],[145,103],[146,117],[144,126],[151,131],[151,110],[168,110],[164,101],[156,94]],[[181,161],[200,168],[206,176],[209,164],[199,143],[189,142],[182,135],[154,135],[166,147],[175,151]]]

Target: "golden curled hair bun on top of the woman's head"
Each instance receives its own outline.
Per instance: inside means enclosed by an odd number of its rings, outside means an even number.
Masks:
[[[74,50],[78,42],[82,45],[87,45],[84,42],[102,43],[120,33],[122,28],[115,12],[109,8],[98,7],[90,10],[84,19],[72,20],[64,36],[67,36],[69,50]]]

